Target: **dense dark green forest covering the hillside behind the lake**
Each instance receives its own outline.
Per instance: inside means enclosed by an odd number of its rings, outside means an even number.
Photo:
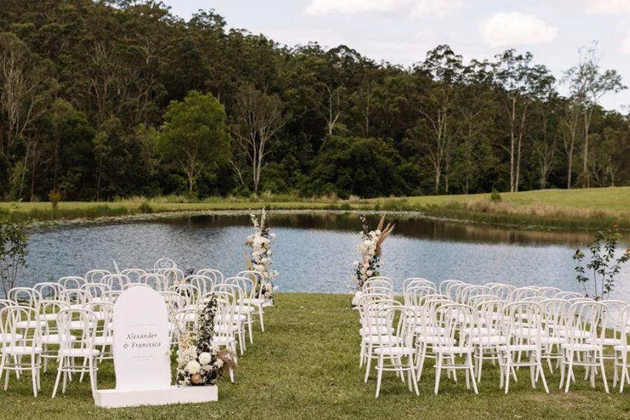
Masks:
[[[152,1],[0,8],[0,195],[374,197],[630,184],[624,89],[596,44],[554,78],[528,52],[404,68],[279,45]],[[559,86],[565,97],[559,94]]]

